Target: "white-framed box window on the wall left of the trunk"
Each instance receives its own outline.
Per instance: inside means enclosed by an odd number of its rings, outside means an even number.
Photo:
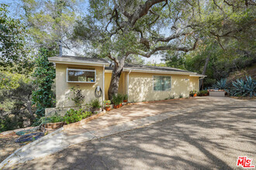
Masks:
[[[67,68],[67,83],[95,83],[96,70]]]

